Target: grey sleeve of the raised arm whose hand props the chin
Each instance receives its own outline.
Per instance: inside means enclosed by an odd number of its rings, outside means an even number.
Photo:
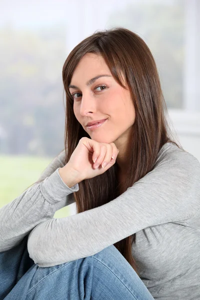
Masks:
[[[16,246],[37,224],[74,201],[70,195],[78,190],[78,184],[69,188],[61,179],[58,170],[63,159],[64,151],[47,165],[39,177],[41,182],[0,208],[0,252]]]

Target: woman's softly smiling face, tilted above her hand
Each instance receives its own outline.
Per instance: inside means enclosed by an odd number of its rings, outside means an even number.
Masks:
[[[91,80],[99,75],[103,76]],[[70,85],[73,111],[83,129],[91,139],[105,143],[115,142],[120,148],[126,142],[134,123],[135,110],[129,90],[115,81],[102,56],[85,54],[73,72]],[[92,130],[86,127],[88,122],[100,119],[106,121]]]

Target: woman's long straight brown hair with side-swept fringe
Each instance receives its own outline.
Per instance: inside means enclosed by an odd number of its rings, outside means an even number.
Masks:
[[[135,107],[135,121],[129,140],[131,152],[130,156],[127,157],[129,160],[128,176],[125,178],[120,192],[117,181],[118,166],[115,162],[103,174],[78,183],[79,190],[73,193],[77,213],[115,199],[121,194],[121,191],[124,192],[151,171],[164,143],[173,142],[181,147],[173,140],[167,123],[166,104],[155,61],[148,46],[132,31],[123,27],[114,27],[109,30],[94,32],[83,39],[72,49],[64,62],[62,79],[66,93],[65,164],[79,139],[83,136],[90,138],[75,118],[73,98],[68,89],[73,71],[86,53],[102,55],[114,79],[126,88],[122,84],[121,73],[123,74]],[[131,253],[131,245],[134,241],[135,233],[116,242],[114,246],[138,273],[136,262]]]

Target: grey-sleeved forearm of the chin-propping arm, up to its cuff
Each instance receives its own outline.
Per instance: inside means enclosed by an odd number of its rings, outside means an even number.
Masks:
[[[39,222],[53,217],[54,207],[45,200],[39,185],[0,208],[0,252],[14,247]]]

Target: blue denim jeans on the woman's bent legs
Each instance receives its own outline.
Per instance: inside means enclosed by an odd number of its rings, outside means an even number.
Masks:
[[[27,236],[0,253],[0,300],[153,300],[127,260],[113,246],[77,260],[38,267]]]

